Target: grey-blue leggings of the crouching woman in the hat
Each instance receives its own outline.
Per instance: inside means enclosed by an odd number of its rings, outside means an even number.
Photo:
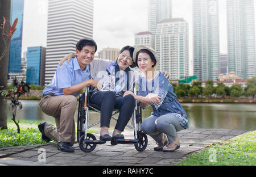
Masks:
[[[151,115],[142,122],[141,128],[144,133],[151,136],[156,142],[162,140],[163,133],[166,134],[168,143],[177,138],[176,132],[184,129],[180,121],[172,113],[159,117]]]

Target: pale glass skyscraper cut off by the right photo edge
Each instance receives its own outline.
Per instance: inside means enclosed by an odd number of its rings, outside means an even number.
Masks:
[[[254,0],[227,0],[229,71],[256,75]]]

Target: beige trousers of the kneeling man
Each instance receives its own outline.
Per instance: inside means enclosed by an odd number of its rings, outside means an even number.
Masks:
[[[69,142],[73,146],[76,138],[74,115],[77,99],[73,95],[43,96],[39,103],[44,113],[55,118],[56,127],[47,123],[44,133],[54,141]]]

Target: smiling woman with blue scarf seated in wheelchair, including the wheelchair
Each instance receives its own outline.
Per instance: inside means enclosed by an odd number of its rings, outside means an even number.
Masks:
[[[140,124],[142,122],[141,107],[138,106],[133,95],[123,96],[125,91],[135,92],[135,83],[142,75],[138,71],[130,68],[137,66],[133,62],[134,48],[129,45],[123,47],[117,58],[117,61],[112,62],[105,71],[101,71],[98,75],[101,77],[100,82],[102,88],[98,90],[94,87],[87,88],[79,100],[79,114],[77,121],[77,140],[80,144],[80,149],[89,152],[95,149],[97,144],[104,144],[106,141],[111,141],[112,145],[119,144],[135,144],[138,151],[143,151],[147,146],[147,136],[142,133]],[[73,57],[65,57],[65,60]],[[94,68],[92,68],[94,69]],[[165,76],[169,76],[168,73]],[[101,130],[100,141],[91,133],[86,133],[88,127],[88,111],[101,113]],[[114,119],[113,111],[118,111],[119,116],[112,136],[109,135],[110,120]],[[116,112],[117,113],[117,112]],[[134,140],[125,139],[122,132],[133,115],[134,123]]]

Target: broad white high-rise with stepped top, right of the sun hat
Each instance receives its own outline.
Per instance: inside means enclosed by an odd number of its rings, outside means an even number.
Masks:
[[[171,79],[189,76],[188,23],[171,18],[158,23],[155,49],[160,58],[158,70],[168,71]]]

